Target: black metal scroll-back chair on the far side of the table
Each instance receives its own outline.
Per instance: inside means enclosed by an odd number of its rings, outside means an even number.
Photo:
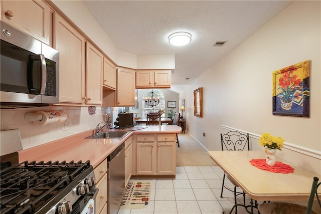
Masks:
[[[221,145],[222,145],[222,151],[225,151],[225,150],[228,150],[228,151],[250,150],[249,134],[243,134],[238,131],[229,131],[226,134],[221,134]],[[228,186],[226,186],[226,184],[224,183],[225,177],[227,177],[231,181],[231,183],[234,185],[233,190],[230,189]],[[244,191],[242,191],[242,192],[236,191],[237,187],[238,187],[238,185],[232,179],[230,179],[228,177],[228,175],[224,172],[221,198],[223,197],[223,189],[224,188],[226,188],[229,191],[232,191],[234,193],[235,204],[234,204],[233,208],[235,208],[235,213],[237,213],[237,206],[242,205],[242,204],[237,203],[237,199],[236,199],[237,195],[241,195],[241,194],[243,195],[243,203],[245,206],[245,192]],[[231,210],[231,212],[232,212],[232,210]]]

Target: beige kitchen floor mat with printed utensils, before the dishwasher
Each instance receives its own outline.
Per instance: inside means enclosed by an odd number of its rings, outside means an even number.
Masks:
[[[141,209],[149,203],[151,184],[147,180],[129,181],[119,209]]]

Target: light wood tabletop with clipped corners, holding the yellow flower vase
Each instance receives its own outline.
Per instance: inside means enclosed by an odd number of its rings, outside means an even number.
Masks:
[[[229,178],[238,184],[250,198],[257,201],[308,201],[313,177],[321,178],[319,174],[282,159],[277,159],[277,161],[288,164],[294,168],[294,172],[275,173],[251,165],[250,160],[252,159],[265,159],[264,150],[208,151],[208,154]]]

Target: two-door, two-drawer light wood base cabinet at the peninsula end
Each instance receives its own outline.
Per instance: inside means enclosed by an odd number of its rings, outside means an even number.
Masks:
[[[175,175],[175,134],[134,134],[132,175]]]

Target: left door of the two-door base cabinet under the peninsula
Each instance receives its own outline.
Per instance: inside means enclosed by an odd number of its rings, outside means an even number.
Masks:
[[[154,143],[138,143],[137,142],[137,175],[150,175],[155,172],[155,148]]]

